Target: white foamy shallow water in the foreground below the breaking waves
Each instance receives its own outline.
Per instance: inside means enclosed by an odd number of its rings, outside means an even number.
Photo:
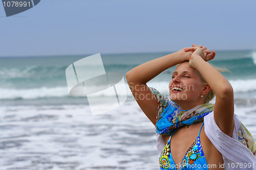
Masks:
[[[255,109],[237,107],[235,111],[253,137]],[[37,169],[144,170],[159,166],[154,125],[135,101],[97,116],[83,116],[84,111],[90,112],[89,106],[0,106],[1,124],[6,127],[0,137],[4,143],[21,144],[1,151],[2,168],[28,169],[36,164]]]

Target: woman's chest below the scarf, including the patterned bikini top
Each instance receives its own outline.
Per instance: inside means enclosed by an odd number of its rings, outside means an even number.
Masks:
[[[201,131],[200,131],[201,126],[199,127],[195,126],[194,128],[195,129],[181,128],[180,130],[177,130],[173,134],[170,140],[169,140],[170,136],[163,136],[166,145],[164,149],[165,153],[162,152],[161,154],[162,158],[164,158],[163,154],[166,154],[167,152],[169,152],[168,154],[170,154],[172,157],[168,156],[168,158],[167,157],[165,158],[167,158],[167,160],[169,160],[170,162],[176,165],[181,165],[182,163],[184,163],[185,161],[184,158],[187,158],[186,159],[187,163],[198,163],[198,162],[195,162],[195,160],[200,157],[201,158],[204,157],[204,159],[200,160],[200,162],[203,162],[203,164],[215,164],[215,165],[223,164],[222,155],[219,153],[219,151],[214,147],[214,145],[210,142],[210,140],[206,136],[204,132],[204,126],[202,126]],[[166,148],[166,146],[168,147],[169,151]],[[159,159],[160,165],[164,164],[164,161],[165,161],[162,159],[162,162],[161,162],[161,156]],[[212,169],[223,169],[223,168],[217,167]]]

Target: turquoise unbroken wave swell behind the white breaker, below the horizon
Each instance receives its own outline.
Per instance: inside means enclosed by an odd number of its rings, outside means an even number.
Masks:
[[[210,61],[212,64],[220,67],[225,67],[234,72],[235,76],[240,76],[244,71],[255,72],[256,71],[256,51],[252,52],[243,52],[243,53],[221,53],[219,58],[216,60]],[[136,56],[136,55],[135,55]],[[131,59],[124,58],[124,56],[118,58],[111,59],[110,61],[106,61],[104,63],[104,68],[106,72],[120,72],[125,74],[125,72],[131,70],[137,65],[148,61],[148,58],[138,58],[137,62],[131,62]],[[45,60],[49,60],[51,63],[51,58],[46,58]],[[145,60],[145,61],[144,61]],[[142,62],[143,61],[143,62]],[[15,63],[15,61],[13,61]],[[18,62],[18,61],[16,61]],[[55,64],[55,65],[38,65],[38,63],[34,63],[32,65],[3,65],[0,67],[0,77],[2,80],[13,82],[14,79],[19,79],[19,81],[29,81],[32,79],[63,79],[65,78],[65,70],[68,65],[63,63]],[[91,72],[97,72],[98,67],[95,66],[87,66],[86,69]],[[14,85],[15,86],[15,85]]]

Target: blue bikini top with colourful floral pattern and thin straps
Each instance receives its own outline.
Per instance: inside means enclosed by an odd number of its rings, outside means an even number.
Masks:
[[[203,124],[204,125],[204,124]],[[199,131],[199,134],[197,136],[197,139],[195,142],[188,148],[187,152],[185,153],[182,163],[180,164],[175,164],[172,153],[170,152],[170,138],[172,138],[173,134],[169,137],[169,140],[167,141],[163,152],[160,155],[159,158],[159,164],[160,164],[160,169],[164,170],[169,170],[169,169],[188,169],[188,170],[208,170],[207,168],[207,162],[203,153],[203,149],[201,146],[200,142],[200,132],[202,130],[202,127]]]

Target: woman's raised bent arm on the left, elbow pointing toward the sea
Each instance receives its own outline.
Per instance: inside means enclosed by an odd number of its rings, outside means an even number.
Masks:
[[[189,60],[192,52],[182,50],[141,64],[126,74],[127,83],[145,115],[155,125],[158,102],[146,83],[162,71]]]

